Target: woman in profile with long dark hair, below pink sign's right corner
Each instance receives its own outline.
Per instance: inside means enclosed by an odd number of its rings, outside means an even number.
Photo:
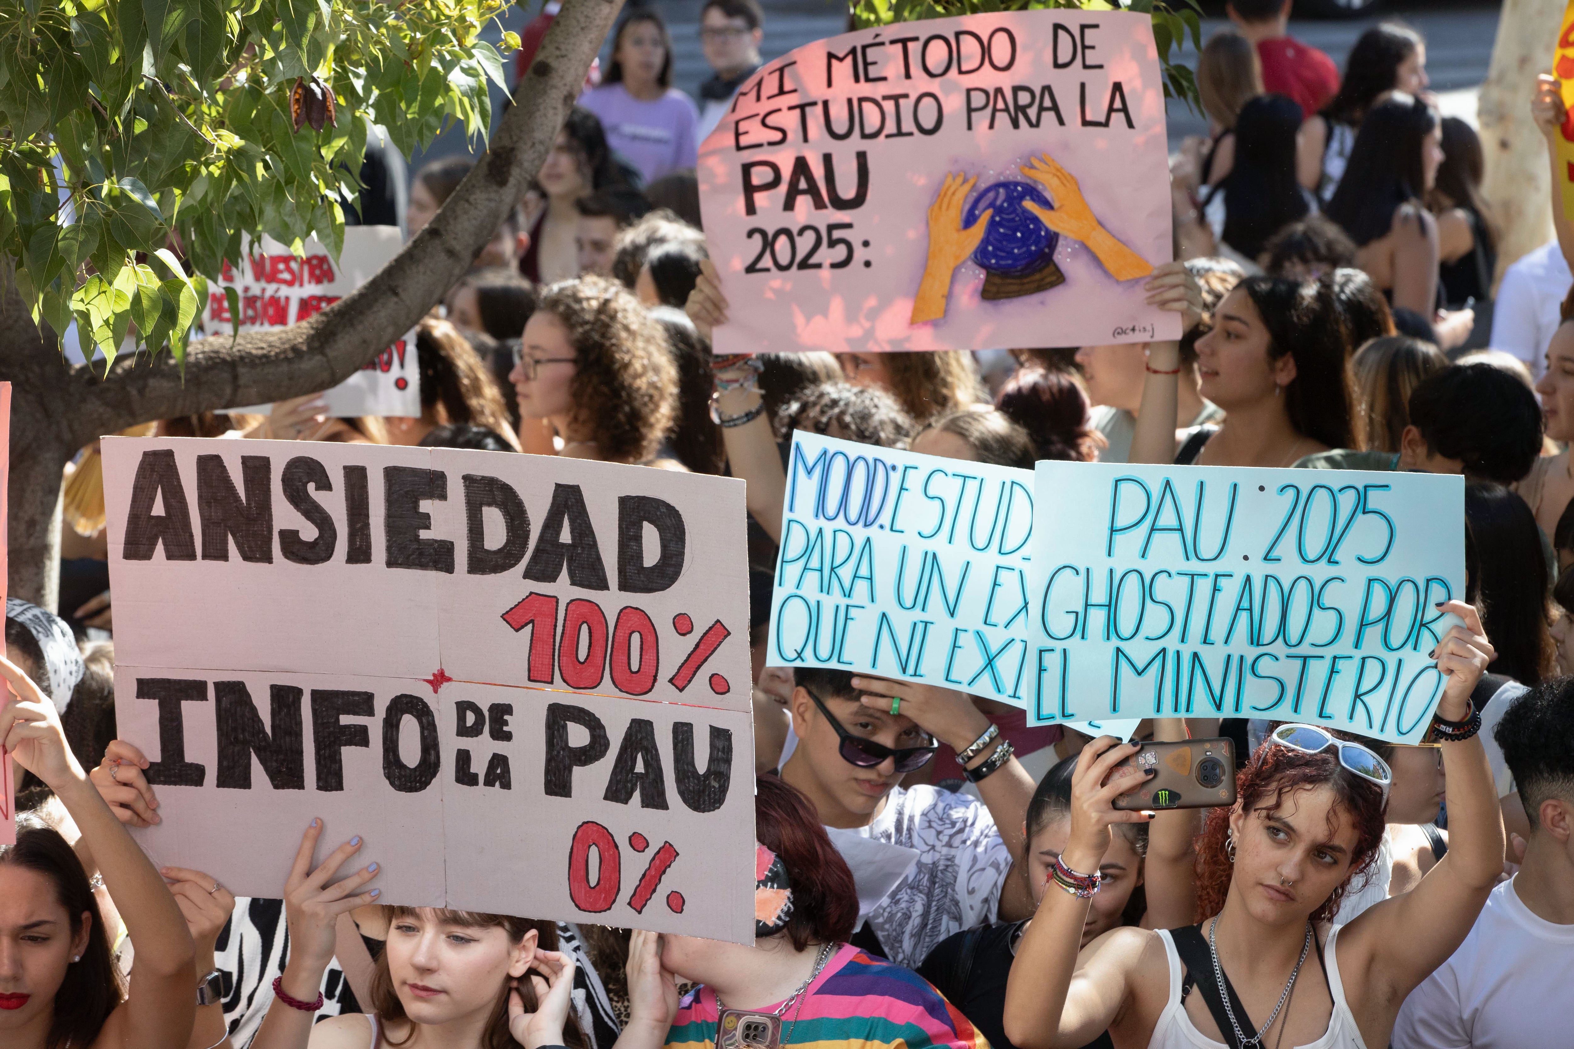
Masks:
[[[1180,351],[1152,343],[1132,462],[1288,467],[1317,451],[1362,447],[1328,282],[1248,277],[1218,304],[1196,355],[1198,392],[1225,409],[1225,421],[1176,440]]]

